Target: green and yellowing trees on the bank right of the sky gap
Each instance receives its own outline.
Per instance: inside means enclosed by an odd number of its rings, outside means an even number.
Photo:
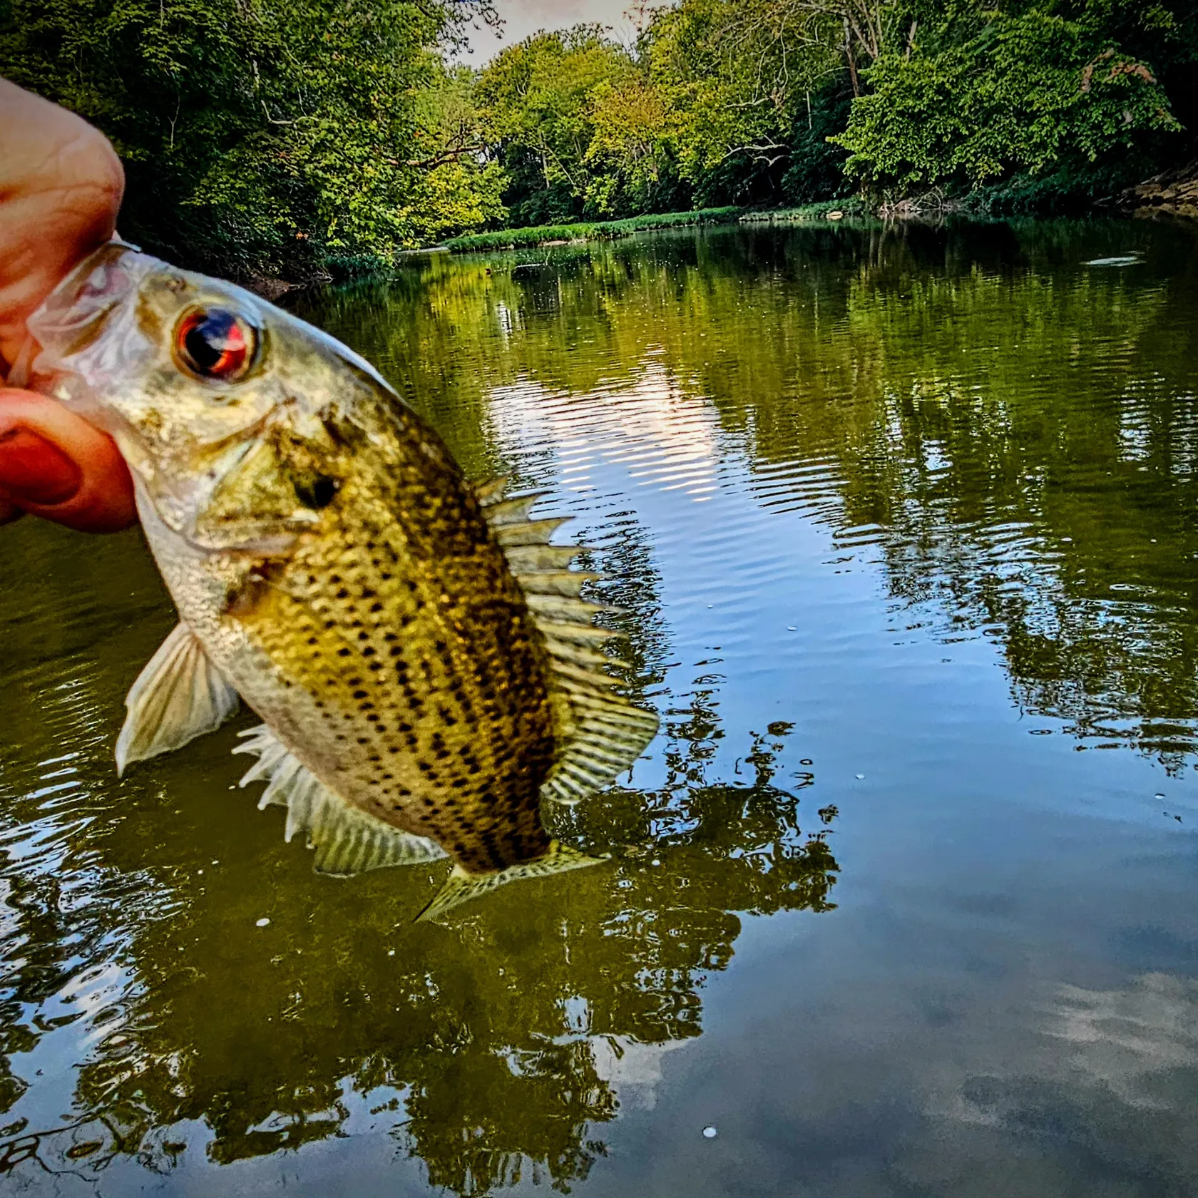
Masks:
[[[1196,44],[1174,0],[680,0],[633,52],[594,26],[513,47],[480,103],[514,223],[863,184],[1054,210],[1180,152]]]

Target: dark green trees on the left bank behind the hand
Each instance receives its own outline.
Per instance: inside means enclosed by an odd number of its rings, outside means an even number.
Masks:
[[[462,87],[440,49],[476,12],[478,0],[10,0],[0,72],[113,139],[126,236],[222,273],[310,276],[500,214],[497,171],[447,140]]]

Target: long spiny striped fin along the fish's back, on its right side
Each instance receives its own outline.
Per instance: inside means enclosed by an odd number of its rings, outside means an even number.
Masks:
[[[597,628],[592,619],[615,609],[579,598],[587,582],[600,577],[568,569],[585,546],[550,545],[549,538],[565,521],[531,520],[540,495],[509,500],[507,488],[507,479],[495,479],[476,488],[476,494],[552,661],[553,719],[562,751],[540,793],[573,804],[631,767],[657,734],[658,718],[616,694],[616,679],[603,672],[606,665],[621,664],[600,652],[619,634]]]

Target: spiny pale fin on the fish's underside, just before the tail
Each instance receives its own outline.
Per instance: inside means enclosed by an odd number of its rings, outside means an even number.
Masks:
[[[346,878],[446,855],[436,841],[392,828],[335,795],[265,724],[241,736],[248,739],[234,752],[258,756],[241,785],[264,779],[270,783],[258,800],[259,811],[271,804],[288,809],[283,839],[290,843],[297,831],[305,833],[308,847],[316,851],[313,866],[319,873]]]

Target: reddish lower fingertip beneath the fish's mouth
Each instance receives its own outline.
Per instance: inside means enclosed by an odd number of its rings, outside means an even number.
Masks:
[[[12,388],[0,388],[0,509],[6,503],[86,532],[137,520],[113,438],[53,399]]]

